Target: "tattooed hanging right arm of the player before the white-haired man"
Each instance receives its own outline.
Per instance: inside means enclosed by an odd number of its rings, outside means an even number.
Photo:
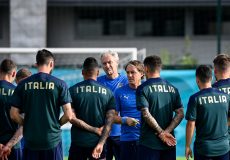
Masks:
[[[106,112],[105,126],[103,128],[102,135],[101,135],[101,138],[100,138],[98,143],[101,143],[103,145],[105,144],[106,139],[109,136],[113,121],[114,121],[114,115],[115,115],[115,110],[114,109],[110,109],[110,110],[108,110]]]

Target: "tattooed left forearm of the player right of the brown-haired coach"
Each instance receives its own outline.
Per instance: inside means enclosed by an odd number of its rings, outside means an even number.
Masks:
[[[154,130],[156,130],[157,134],[160,134],[163,129],[159,126],[155,118],[149,113],[148,108],[142,108],[141,109],[142,115],[144,120],[147,122],[147,124]]]

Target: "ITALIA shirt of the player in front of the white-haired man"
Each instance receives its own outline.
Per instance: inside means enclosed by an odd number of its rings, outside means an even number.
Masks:
[[[72,107],[76,116],[94,127],[102,127],[105,123],[106,111],[115,109],[113,93],[95,80],[85,80],[70,88]],[[99,140],[94,133],[71,128],[72,142],[84,147],[93,147]]]

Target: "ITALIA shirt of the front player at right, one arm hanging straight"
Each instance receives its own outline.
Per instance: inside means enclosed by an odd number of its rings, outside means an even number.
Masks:
[[[229,96],[215,88],[202,89],[189,99],[186,119],[195,120],[197,150],[203,155],[228,151]]]

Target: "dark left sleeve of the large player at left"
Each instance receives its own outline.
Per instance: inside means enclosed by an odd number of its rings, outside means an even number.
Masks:
[[[21,85],[18,85],[10,98],[10,105],[22,110],[22,94]]]

